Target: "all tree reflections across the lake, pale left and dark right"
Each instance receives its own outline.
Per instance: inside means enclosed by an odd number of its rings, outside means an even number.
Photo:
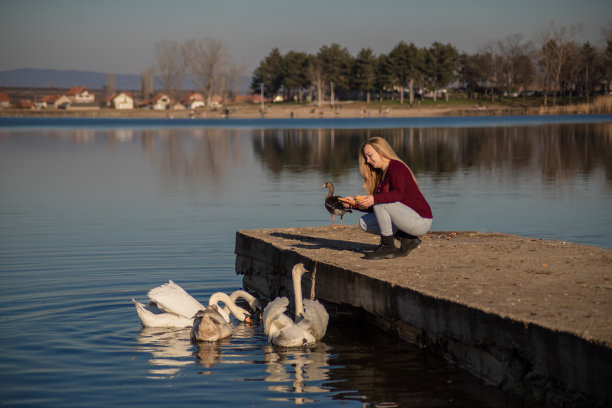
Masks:
[[[47,131],[47,139],[91,143],[94,131]],[[359,147],[387,139],[417,174],[449,176],[471,169],[532,171],[568,179],[599,169],[612,181],[612,124],[544,124],[480,128],[228,129],[186,128],[136,132],[142,149],[171,182],[220,185],[226,174],[248,171],[251,148],[273,174],[357,171]],[[249,138],[250,136],[250,138]],[[132,140],[131,131],[106,132],[107,143]],[[252,141],[252,146],[249,143]],[[242,167],[242,168],[240,168]]]

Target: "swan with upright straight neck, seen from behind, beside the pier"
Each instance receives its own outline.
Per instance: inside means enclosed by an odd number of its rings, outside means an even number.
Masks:
[[[270,302],[263,313],[264,332],[270,343],[281,347],[312,345],[321,340],[327,330],[329,315],[316,300],[302,299],[303,264],[291,271],[295,297],[295,321],[285,314],[289,300],[279,297]]]

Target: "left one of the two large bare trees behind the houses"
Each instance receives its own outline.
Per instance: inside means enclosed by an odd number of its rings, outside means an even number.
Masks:
[[[183,47],[175,41],[162,40],[155,43],[155,66],[161,88],[174,99],[176,90],[185,80],[186,65]]]

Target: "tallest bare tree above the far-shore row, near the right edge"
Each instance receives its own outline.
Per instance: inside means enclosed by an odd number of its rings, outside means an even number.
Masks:
[[[574,37],[580,30],[580,25],[572,25],[569,28],[557,27],[554,22],[551,22],[550,26],[540,34],[541,56],[545,67],[545,75],[548,81],[553,81],[555,85],[553,106],[557,103],[561,72],[576,49]],[[544,101],[544,104],[546,104],[546,98]]]

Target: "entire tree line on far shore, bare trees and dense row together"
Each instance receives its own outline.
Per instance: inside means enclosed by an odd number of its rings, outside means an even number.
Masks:
[[[399,41],[389,53],[363,48],[356,56],[337,43],[323,45],[316,54],[291,50],[283,55],[274,48],[252,73],[251,91],[263,92],[268,100],[279,95],[285,101],[316,100],[319,106],[324,100],[396,99],[403,104],[406,93],[412,106],[426,93],[434,100],[438,94],[448,98],[451,87],[473,99],[538,91],[545,106],[549,95],[553,106],[558,95],[582,95],[588,103],[595,92],[610,89],[612,26],[602,29],[605,45],[599,48],[578,44],[580,30],[552,22],[534,40],[513,34],[485,43],[474,54],[440,42],[417,47]],[[235,96],[245,69],[231,60],[227,43],[210,37],[159,41],[154,61],[141,75],[143,97],[153,93],[155,80],[174,98],[190,75],[208,105],[215,94],[224,101]],[[112,85],[112,78],[107,82]]]

